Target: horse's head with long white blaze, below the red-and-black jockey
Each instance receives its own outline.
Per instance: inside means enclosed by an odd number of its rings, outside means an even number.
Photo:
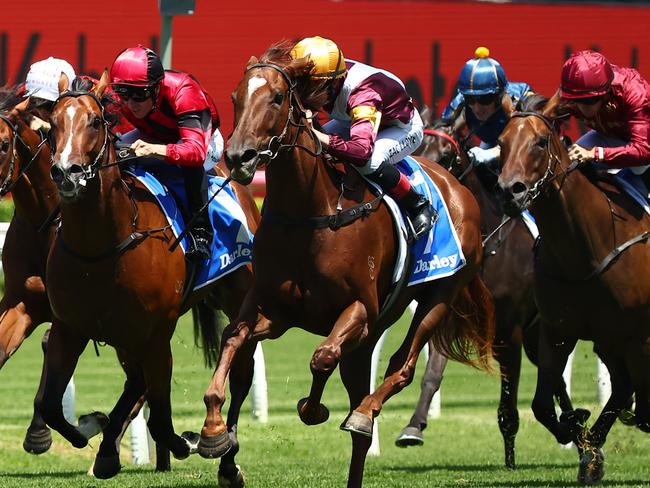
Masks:
[[[109,152],[109,133],[100,99],[108,72],[90,91],[70,91],[65,75],[50,117],[52,179],[63,199],[76,200]]]

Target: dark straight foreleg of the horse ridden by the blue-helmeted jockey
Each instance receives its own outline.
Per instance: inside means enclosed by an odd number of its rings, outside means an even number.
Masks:
[[[498,320],[498,316],[497,316]],[[497,331],[508,327],[497,324]],[[521,329],[509,330],[510,336],[495,341],[494,357],[501,370],[501,398],[497,410],[499,430],[503,436],[505,463],[507,468],[515,467],[515,438],[519,431],[519,412],[517,396],[521,371]],[[498,332],[497,332],[498,334]]]

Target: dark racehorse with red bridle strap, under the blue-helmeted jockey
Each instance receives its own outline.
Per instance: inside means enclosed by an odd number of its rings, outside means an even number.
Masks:
[[[422,111],[426,121],[429,111]],[[429,125],[429,124],[428,124]],[[496,176],[487,167],[470,161],[463,114],[447,123],[438,122],[425,129],[417,154],[447,167],[476,197],[481,208],[481,230],[487,236],[481,277],[492,293],[496,312],[494,357],[501,369],[501,398],[497,410],[503,435],[505,465],[515,467],[515,437],[519,430],[517,394],[521,371],[521,346],[537,364],[537,306],[533,296],[533,246],[535,239],[522,219],[513,219],[498,229],[504,215],[495,191]],[[421,445],[427,426],[431,399],[440,387],[447,361],[429,344],[429,361],[422,377],[422,390],[415,412],[395,443],[400,447]],[[562,412],[571,412],[571,399],[564,380],[555,392]]]

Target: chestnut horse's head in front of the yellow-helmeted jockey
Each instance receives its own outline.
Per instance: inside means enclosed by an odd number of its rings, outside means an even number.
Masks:
[[[224,156],[232,178],[242,184],[252,181],[258,166],[293,147],[297,138],[293,129],[303,127],[299,83],[313,64],[304,58],[292,60],[286,48],[267,53],[271,54],[249,60],[232,94],[234,130]]]

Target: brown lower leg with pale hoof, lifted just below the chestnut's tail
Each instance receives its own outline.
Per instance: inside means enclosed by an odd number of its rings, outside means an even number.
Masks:
[[[395,439],[398,447],[421,446],[424,444],[422,431],[427,427],[427,416],[433,395],[440,389],[442,375],[447,366],[447,358],[440,354],[429,341],[429,360],[422,375],[422,387],[420,398],[415,406],[415,412],[408,425],[402,429],[400,435]]]

